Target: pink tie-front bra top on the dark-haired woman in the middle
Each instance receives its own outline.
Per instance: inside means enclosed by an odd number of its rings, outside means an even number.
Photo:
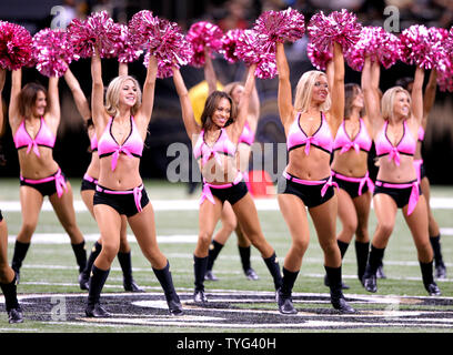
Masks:
[[[212,148],[204,142],[204,130],[202,130],[197,144],[193,148],[193,155],[197,160],[201,159],[202,165],[204,165],[211,156],[214,156],[220,163],[219,154],[234,156],[236,146],[231,142],[225,129],[222,128],[220,129],[220,135]]]

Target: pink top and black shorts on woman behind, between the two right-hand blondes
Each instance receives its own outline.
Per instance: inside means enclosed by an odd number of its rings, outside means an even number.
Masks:
[[[345,123],[340,125],[335,140],[333,141],[333,150],[340,150],[340,154],[353,149],[358,154],[360,151],[370,152],[373,141],[366,132],[365,123],[362,119],[359,120],[359,133],[352,140],[345,128]],[[346,176],[332,170],[333,181],[338,183],[340,189],[348,192],[351,199],[362,195],[366,191],[373,191],[373,181],[370,179],[369,172],[364,176]]]

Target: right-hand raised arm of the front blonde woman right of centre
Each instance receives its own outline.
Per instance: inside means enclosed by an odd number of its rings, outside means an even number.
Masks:
[[[332,92],[332,105],[329,110],[330,125],[333,129],[333,134],[343,121],[344,115],[344,57],[341,44],[333,44],[333,84],[331,87]]]

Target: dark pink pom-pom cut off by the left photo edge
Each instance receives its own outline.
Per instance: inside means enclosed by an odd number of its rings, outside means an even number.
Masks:
[[[17,70],[31,60],[30,32],[16,23],[0,21],[0,67]]]

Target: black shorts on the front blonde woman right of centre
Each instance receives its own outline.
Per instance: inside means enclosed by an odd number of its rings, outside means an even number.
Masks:
[[[295,176],[292,176],[292,178],[295,178]],[[328,181],[329,178],[324,180]],[[328,190],[325,191],[324,196],[321,196],[321,190],[323,189],[323,186],[324,184],[304,185],[304,184],[300,184],[291,180],[288,180],[284,176],[280,176],[276,191],[278,193],[289,193],[289,194],[296,195],[299,199],[302,200],[305,206],[315,207],[329,201],[335,194],[333,190],[334,187],[329,186]]]

